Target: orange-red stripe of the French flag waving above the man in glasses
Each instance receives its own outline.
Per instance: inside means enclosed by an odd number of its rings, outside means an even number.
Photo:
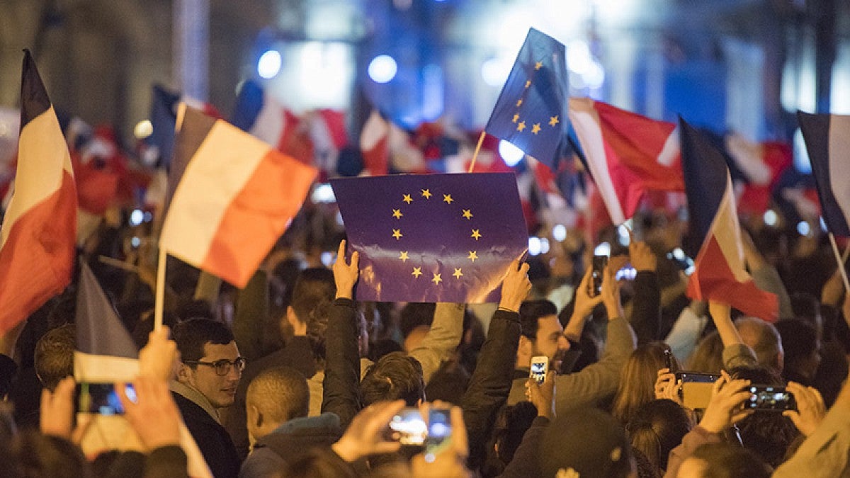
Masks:
[[[316,169],[269,151],[218,224],[202,270],[245,287],[298,213]]]

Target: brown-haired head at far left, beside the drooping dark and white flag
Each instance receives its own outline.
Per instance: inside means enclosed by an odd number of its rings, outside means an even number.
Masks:
[[[44,388],[56,390],[59,380],[74,374],[77,327],[65,324],[42,335],[36,344],[36,374]]]

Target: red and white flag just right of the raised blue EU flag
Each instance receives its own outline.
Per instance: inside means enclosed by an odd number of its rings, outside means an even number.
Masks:
[[[647,191],[684,191],[672,122],[590,98],[570,98],[570,122],[616,225],[632,217]]]

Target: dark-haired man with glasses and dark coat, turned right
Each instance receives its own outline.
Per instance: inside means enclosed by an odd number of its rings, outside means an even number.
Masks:
[[[240,458],[218,410],[233,404],[245,359],[239,355],[233,333],[221,322],[190,319],[178,323],[173,333],[180,366],[171,390],[186,428],[212,475],[236,478]]]

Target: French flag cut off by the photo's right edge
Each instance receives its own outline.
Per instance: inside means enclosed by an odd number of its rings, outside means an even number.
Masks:
[[[826,227],[850,236],[850,116],[797,111]]]

